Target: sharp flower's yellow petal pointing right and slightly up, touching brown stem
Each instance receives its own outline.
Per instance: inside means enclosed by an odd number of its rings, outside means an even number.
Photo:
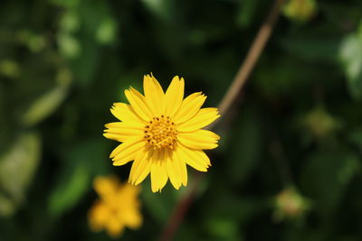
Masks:
[[[188,121],[177,126],[179,132],[193,132],[214,122],[220,117],[217,108],[202,108]]]

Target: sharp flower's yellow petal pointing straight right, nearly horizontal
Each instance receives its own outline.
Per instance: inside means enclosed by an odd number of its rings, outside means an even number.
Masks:
[[[179,133],[177,134],[177,139],[188,148],[209,150],[217,147],[217,141],[220,139],[220,136],[210,131],[197,130],[195,132]]]

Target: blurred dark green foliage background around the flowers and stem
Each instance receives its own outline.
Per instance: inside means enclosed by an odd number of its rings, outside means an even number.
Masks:
[[[220,146],[176,240],[362,240],[362,4],[295,1],[214,129]],[[217,106],[271,4],[2,1],[0,240],[108,240],[87,212],[94,176],[129,174],[102,136],[112,103],[153,72]],[[122,238],[157,239],[190,187],[153,194],[147,179],[144,224]],[[297,214],[275,201],[289,188]]]

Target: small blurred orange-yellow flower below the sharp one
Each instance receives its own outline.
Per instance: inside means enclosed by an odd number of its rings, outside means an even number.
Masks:
[[[120,184],[116,177],[97,177],[93,186],[100,199],[89,212],[91,230],[106,229],[110,236],[118,237],[124,227],[135,229],[141,226],[139,187]]]

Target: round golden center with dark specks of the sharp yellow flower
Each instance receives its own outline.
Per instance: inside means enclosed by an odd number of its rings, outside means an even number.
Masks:
[[[177,139],[176,125],[169,116],[153,117],[145,126],[145,140],[154,149],[162,147],[174,148]]]

